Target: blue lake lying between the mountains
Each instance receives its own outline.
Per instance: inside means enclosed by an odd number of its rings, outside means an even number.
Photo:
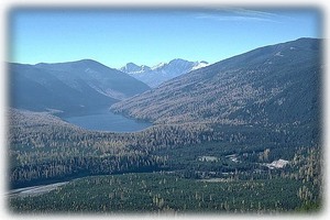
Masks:
[[[150,122],[129,119],[121,114],[114,114],[111,111],[68,117],[64,118],[64,120],[87,130],[121,133],[141,131],[152,125]]]

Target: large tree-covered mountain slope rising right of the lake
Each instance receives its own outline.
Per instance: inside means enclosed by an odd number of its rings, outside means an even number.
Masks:
[[[299,38],[256,48],[176,77],[111,109],[155,123],[314,122],[320,113],[320,44]]]

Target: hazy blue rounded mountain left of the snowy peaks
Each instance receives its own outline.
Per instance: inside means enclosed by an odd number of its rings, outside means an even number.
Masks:
[[[150,87],[91,59],[58,64],[9,64],[10,106],[77,113],[108,108]]]

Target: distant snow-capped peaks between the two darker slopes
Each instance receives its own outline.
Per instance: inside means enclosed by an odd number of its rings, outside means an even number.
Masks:
[[[155,88],[164,81],[167,81],[183,74],[187,74],[188,72],[205,67],[207,65],[207,62],[188,62],[177,58],[170,61],[168,64],[161,63],[153,67],[148,67],[145,65],[138,66],[136,64],[129,63],[120,68],[120,70],[145,82],[150,87]]]

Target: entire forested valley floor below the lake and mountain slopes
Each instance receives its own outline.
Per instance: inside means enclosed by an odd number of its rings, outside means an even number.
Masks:
[[[320,131],[312,124],[165,124],[123,134],[44,113],[11,117],[13,213],[282,213],[323,204]]]

